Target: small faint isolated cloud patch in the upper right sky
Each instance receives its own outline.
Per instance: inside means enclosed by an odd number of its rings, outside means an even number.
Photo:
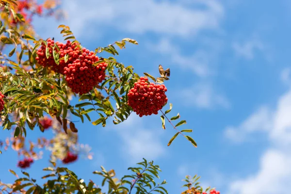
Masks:
[[[264,46],[258,40],[250,40],[242,44],[235,42],[233,43],[232,48],[234,49],[234,51],[236,52],[238,56],[241,56],[250,60],[254,58],[255,51],[263,50]]]

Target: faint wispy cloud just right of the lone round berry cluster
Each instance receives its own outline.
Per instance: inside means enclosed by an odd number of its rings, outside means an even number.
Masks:
[[[189,89],[179,92],[179,97],[187,106],[211,109],[214,107],[230,108],[230,103],[226,97],[214,91],[211,84],[198,83]]]

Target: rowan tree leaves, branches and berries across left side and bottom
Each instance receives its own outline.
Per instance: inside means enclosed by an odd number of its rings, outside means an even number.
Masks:
[[[42,186],[37,184],[36,180],[31,178],[27,172],[22,171],[25,177],[19,178],[13,170],[9,170],[17,179],[13,184],[0,182],[1,190],[7,193],[103,194],[101,188],[93,181],[85,183],[84,179],[78,178],[74,172],[57,166],[58,161],[65,164],[76,161],[82,152],[88,159],[92,159],[92,154],[89,153],[90,147],[78,143],[79,130],[75,127],[76,121],[73,119],[80,119],[82,123],[88,120],[94,126],[103,127],[107,125],[108,121],[112,121],[114,125],[120,124],[126,121],[134,111],[129,104],[129,91],[139,92],[140,94],[132,93],[136,96],[141,95],[135,98],[137,103],[135,109],[142,109],[145,107],[141,106],[148,105],[141,101],[150,95],[150,92],[146,89],[142,92],[142,87],[134,88],[142,79],[144,79],[145,87],[149,87],[148,79],[134,73],[133,66],[126,66],[114,58],[119,55],[116,46],[119,49],[125,49],[128,43],[138,45],[136,40],[124,38],[107,47],[97,47],[94,51],[89,51],[78,42],[70,28],[65,25],[60,25],[59,28],[67,43],[54,42],[53,38],[46,40],[37,38],[31,24],[32,16],[58,16],[58,11],[60,11],[58,3],[56,0],[46,0],[42,5],[37,4],[37,1],[34,0],[0,0],[0,92],[4,102],[4,109],[0,115],[2,129],[11,130],[11,137],[7,138],[5,142],[0,141],[0,149],[4,147],[6,151],[11,146],[19,157],[23,157],[25,165],[18,166],[29,167],[33,160],[41,159],[42,149],[46,148],[50,151],[50,163],[52,164],[43,169],[49,171],[49,174],[43,177],[47,182]],[[46,13],[43,12],[43,9],[46,10]],[[60,48],[60,45],[65,49]],[[39,48],[43,52],[40,52]],[[109,53],[110,57],[96,56],[104,54],[104,52]],[[91,61],[92,56],[97,60]],[[79,68],[78,63],[83,66]],[[60,68],[64,69],[57,70]],[[97,84],[94,84],[94,88],[85,94],[76,92],[70,83],[72,79],[76,79],[74,72],[88,68],[100,73]],[[104,77],[102,77],[103,74],[101,76],[101,73],[104,73]],[[146,72],[144,75],[154,81],[152,82],[156,87],[154,89],[158,91],[159,87],[162,87],[162,92],[165,92],[165,87],[160,84],[169,80],[170,69],[164,70],[162,65],[159,65],[159,73],[158,78]],[[76,88],[87,87],[86,82],[83,81],[90,82],[90,78],[86,78],[87,75],[79,72],[79,81],[74,80],[76,81],[73,81],[74,86]],[[97,75],[91,75],[91,78],[95,77]],[[77,83],[81,84],[76,85]],[[161,113],[162,129],[166,129],[167,121],[172,128],[177,130],[169,140],[168,146],[178,135],[182,135],[197,147],[194,139],[184,134],[192,132],[192,129],[178,129],[181,125],[186,124],[186,120],[178,121],[179,113],[168,117],[173,105],[169,103],[169,109],[162,111],[167,102],[166,96],[163,97],[166,100],[155,109]],[[73,98],[78,99],[78,103],[73,103]],[[154,98],[159,101],[157,95],[152,96],[147,103],[153,103]],[[143,115],[140,114],[140,116]],[[173,122],[176,121],[177,123],[174,124]],[[37,142],[29,141],[27,130],[34,130],[37,126],[42,132],[52,131],[53,138],[39,137]],[[38,153],[36,149],[39,149]],[[25,163],[27,161],[29,162]],[[136,194],[168,194],[164,188],[166,181],[156,182],[161,171],[158,165],[147,162],[145,159],[137,165],[138,167],[130,167],[131,174],[121,179],[115,177],[114,170],[107,172],[102,166],[101,171],[93,173],[103,177],[101,186],[108,184],[106,191],[108,194],[133,194],[133,192]],[[188,190],[183,194],[191,192],[196,194],[203,191],[199,187],[199,183],[195,183],[197,179],[196,177],[192,180],[189,177],[186,178],[188,184],[184,186],[188,187]]]

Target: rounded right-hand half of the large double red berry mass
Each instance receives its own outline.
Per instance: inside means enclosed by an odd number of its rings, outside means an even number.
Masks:
[[[73,92],[80,95],[88,93],[98,83],[105,80],[107,64],[92,65],[98,60],[93,51],[83,48],[79,58],[64,68],[65,80]]]

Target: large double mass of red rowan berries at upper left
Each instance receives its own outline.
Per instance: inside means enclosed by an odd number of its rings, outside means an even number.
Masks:
[[[55,44],[59,50],[54,47]],[[48,48],[49,58],[46,55]],[[60,63],[57,65],[53,58],[53,50],[59,53]],[[76,94],[85,94],[92,90],[98,83],[105,80],[106,63],[100,63],[93,66],[99,58],[93,51],[82,48],[76,43],[71,43],[69,40],[66,44],[54,42],[48,39],[47,46],[43,43],[40,49],[37,50],[38,63],[45,67],[51,67],[57,73],[65,75],[65,81],[72,91]],[[65,61],[63,58],[66,58]]]

